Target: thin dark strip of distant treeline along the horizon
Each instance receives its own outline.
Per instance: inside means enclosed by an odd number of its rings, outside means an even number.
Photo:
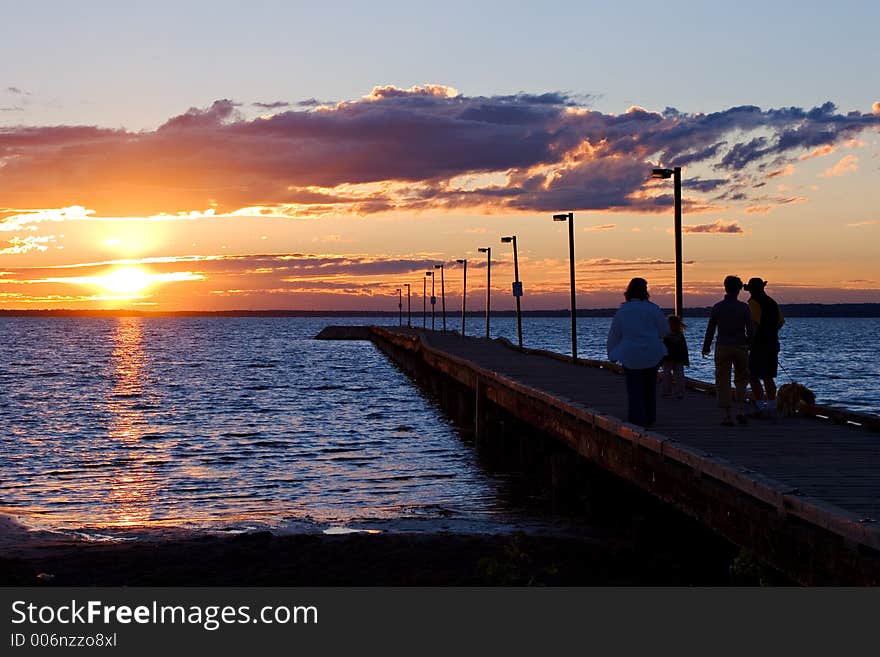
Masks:
[[[789,303],[780,304],[786,317],[880,317],[880,303]],[[711,308],[685,308],[686,317],[708,317]],[[616,308],[579,309],[578,317],[612,317]],[[672,313],[671,308],[664,312]],[[493,310],[492,317],[515,317],[513,310]],[[2,310],[0,317],[397,317],[397,311],[384,310]],[[437,312],[436,316],[439,317]],[[469,311],[468,317],[485,317],[486,311]],[[446,321],[460,317],[460,311],[447,311]],[[568,310],[525,310],[523,317],[569,317]],[[404,313],[404,319],[406,313]],[[412,313],[413,323],[421,321],[421,311]]]

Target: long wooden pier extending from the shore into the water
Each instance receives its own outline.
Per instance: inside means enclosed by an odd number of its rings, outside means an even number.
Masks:
[[[689,380],[658,398],[651,429],[627,423],[621,370],[520,349],[504,339],[390,327],[328,327],[319,338],[369,339],[472,423],[478,444],[524,451],[508,425],[564,445],[806,585],[880,583],[880,421],[802,405],[799,415],[722,427],[714,387]],[[566,458],[567,455],[567,458]]]

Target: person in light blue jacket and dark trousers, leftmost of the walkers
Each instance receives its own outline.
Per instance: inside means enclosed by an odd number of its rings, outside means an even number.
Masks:
[[[608,358],[623,365],[627,419],[648,427],[657,419],[657,368],[666,355],[663,336],[669,333],[669,326],[663,311],[648,301],[644,278],[632,279],[623,296],[626,303],[614,315],[608,331]]]

